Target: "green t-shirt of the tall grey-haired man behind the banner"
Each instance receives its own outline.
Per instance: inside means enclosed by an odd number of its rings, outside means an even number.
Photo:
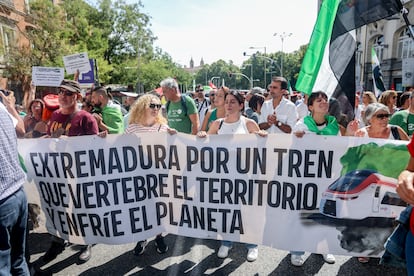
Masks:
[[[184,98],[187,106],[187,114],[183,110],[181,98],[178,102],[170,101],[167,110],[168,126],[176,129],[178,132],[191,134],[192,124],[188,116],[196,114],[198,111],[193,99],[188,96],[184,96]]]

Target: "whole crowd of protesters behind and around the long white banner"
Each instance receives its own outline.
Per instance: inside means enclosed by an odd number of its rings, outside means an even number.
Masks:
[[[352,135],[357,137],[409,140],[414,132],[414,94],[406,92],[397,106],[397,93],[385,91],[377,99],[374,93],[356,94],[355,118],[342,123],[343,114],[332,116],[330,107],[335,104],[323,91],[302,95],[289,93],[283,77],[272,78],[267,89],[252,88],[248,93],[222,86],[211,89],[209,97],[202,85],[194,94],[183,94],[173,78],[160,82],[164,105],[160,95],[148,92],[143,95],[125,93],[125,106],[114,103],[111,93],[104,87],[93,87],[82,92],[77,81],[63,80],[57,93],[35,98],[27,105],[26,115],[15,108],[13,95],[0,93],[0,213],[13,209],[13,216],[0,217],[0,274],[27,274],[25,258],[27,230],[27,200],[22,189],[24,173],[18,166],[17,137],[39,138],[62,135],[98,135],[177,132],[205,137],[211,134],[256,133],[259,137],[271,133],[309,135]],[[83,93],[83,94],[82,94]],[[359,102],[362,104],[359,104]],[[306,138],[305,138],[306,139]],[[409,144],[410,154],[414,146]],[[398,193],[409,204],[414,204],[414,159],[399,178]],[[414,215],[411,213],[410,229],[414,231]],[[409,273],[414,273],[414,238],[407,233],[407,262]],[[51,246],[43,256],[44,262],[57,257],[68,245],[65,240],[51,238]],[[160,233],[155,238],[159,253],[168,251],[168,245]],[[144,253],[147,241],[137,243],[134,253]],[[232,243],[223,241],[218,257],[226,258]],[[248,261],[255,261],[259,252],[257,245],[248,244]],[[409,250],[408,250],[409,249]],[[79,259],[88,261],[92,245],[81,247]],[[291,263],[301,266],[304,252],[291,252]],[[334,263],[332,254],[323,255],[327,263]],[[359,258],[367,262],[367,258]]]

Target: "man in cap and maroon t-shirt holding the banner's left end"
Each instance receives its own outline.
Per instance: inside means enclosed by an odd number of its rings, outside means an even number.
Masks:
[[[82,98],[79,83],[73,80],[62,80],[59,86],[59,109],[52,113],[48,124],[48,135],[58,138],[62,135],[79,136],[98,134],[99,128],[95,118],[88,112],[78,109],[78,100]],[[49,262],[65,249],[65,241],[53,236],[52,244],[43,256]],[[91,245],[83,246],[79,260],[86,262],[91,257]]]

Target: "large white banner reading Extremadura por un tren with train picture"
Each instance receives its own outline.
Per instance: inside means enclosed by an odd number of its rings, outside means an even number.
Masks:
[[[163,232],[355,256],[382,252],[409,159],[402,141],[284,134],[22,139],[19,152],[49,232],[76,244]]]

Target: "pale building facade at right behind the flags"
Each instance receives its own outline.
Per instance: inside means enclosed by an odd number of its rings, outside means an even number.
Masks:
[[[326,0],[329,1],[329,0]],[[414,0],[402,0],[414,24]],[[318,0],[320,7],[322,0]],[[374,90],[371,49],[374,48],[386,89],[404,91],[414,86],[414,37],[401,14],[362,26],[356,30],[356,90]]]

